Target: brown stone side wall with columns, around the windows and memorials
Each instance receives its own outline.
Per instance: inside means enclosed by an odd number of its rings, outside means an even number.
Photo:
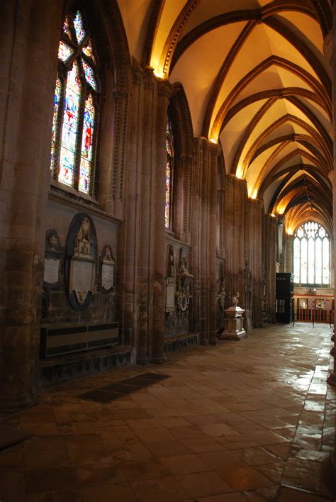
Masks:
[[[246,182],[225,175],[220,145],[194,138],[184,89],[157,79],[131,60],[116,0],[86,0],[103,82],[96,199],[50,183],[50,138],[57,47],[64,2],[8,1],[1,16],[0,94],[0,406],[35,400],[40,378],[40,328],[116,320],[119,355],[113,361],[162,363],[165,345],[215,344],[223,305],[235,291],[250,326],[272,320],[276,223]],[[166,126],[176,140],[172,228],[165,228]],[[51,186],[52,185],[52,186]],[[69,225],[87,213],[96,228],[97,257],[111,246],[116,287],[99,290],[76,310],[61,269],[55,288],[43,286],[46,232],[65,248]],[[274,226],[275,225],[275,226]],[[167,246],[178,269],[177,297],[167,316]],[[98,260],[97,258],[97,260]],[[183,260],[182,260],[183,258]],[[62,262],[65,255],[62,255]],[[189,275],[188,275],[189,274]],[[192,276],[192,277],[191,277]],[[41,319],[42,318],[42,319]],[[246,321],[247,322],[247,321]],[[125,349],[128,349],[125,352]],[[123,354],[125,353],[125,357]],[[91,359],[90,359],[91,360]],[[58,365],[57,365],[58,364]],[[68,362],[55,364],[57,374]],[[61,364],[61,367],[60,367]],[[73,367],[67,376],[71,377]],[[83,371],[84,371],[83,370]],[[50,370],[51,371],[51,370]],[[53,370],[52,370],[53,371]],[[82,374],[82,373],[81,373]]]

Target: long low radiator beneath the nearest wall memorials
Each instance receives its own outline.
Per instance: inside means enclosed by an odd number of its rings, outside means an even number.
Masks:
[[[55,357],[82,350],[115,347],[119,342],[119,323],[71,325],[41,328],[40,356]]]

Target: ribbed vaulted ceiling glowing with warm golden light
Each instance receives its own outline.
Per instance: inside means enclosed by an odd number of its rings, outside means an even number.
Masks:
[[[327,0],[119,0],[131,55],[181,82],[194,136],[220,143],[289,233],[331,229],[331,69]]]

